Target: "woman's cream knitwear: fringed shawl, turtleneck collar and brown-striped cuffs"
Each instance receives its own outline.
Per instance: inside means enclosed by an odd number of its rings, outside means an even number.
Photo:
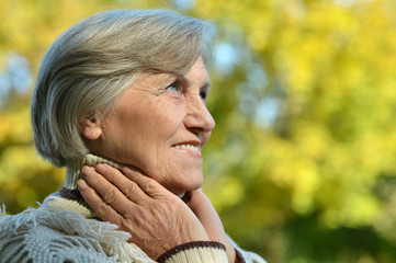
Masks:
[[[1,215],[0,263],[97,263],[154,262],[137,245],[128,243],[131,235],[117,226],[98,220],[93,210],[79,196],[77,181],[83,164],[110,160],[88,155],[68,168],[65,187],[37,208],[27,208],[14,216]],[[4,214],[4,209],[2,211]],[[258,255],[237,249],[240,260],[264,263]],[[244,260],[245,259],[245,260]],[[167,251],[158,262],[227,262],[225,247],[219,242],[197,241]]]

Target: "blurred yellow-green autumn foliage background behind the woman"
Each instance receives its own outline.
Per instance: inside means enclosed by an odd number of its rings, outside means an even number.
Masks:
[[[271,263],[396,262],[395,0],[0,0],[0,204],[57,191],[29,103],[39,61],[79,20],[167,8],[216,31],[204,191]]]

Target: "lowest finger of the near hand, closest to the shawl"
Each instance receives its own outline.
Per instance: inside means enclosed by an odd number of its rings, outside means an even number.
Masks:
[[[83,179],[78,181],[78,186],[84,201],[100,218],[116,225],[121,224],[120,215],[103,202],[99,194]]]

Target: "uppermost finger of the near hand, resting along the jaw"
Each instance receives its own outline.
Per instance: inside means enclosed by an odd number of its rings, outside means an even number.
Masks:
[[[163,186],[161,186],[156,180],[142,174],[134,168],[123,167],[124,174],[137,185],[150,197],[159,197],[162,196],[167,191]]]

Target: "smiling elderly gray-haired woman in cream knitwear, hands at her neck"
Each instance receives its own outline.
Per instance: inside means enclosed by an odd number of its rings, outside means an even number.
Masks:
[[[201,191],[211,38],[170,11],[110,11],[48,49],[34,142],[64,187],[0,221],[0,262],[264,262],[240,250]]]

